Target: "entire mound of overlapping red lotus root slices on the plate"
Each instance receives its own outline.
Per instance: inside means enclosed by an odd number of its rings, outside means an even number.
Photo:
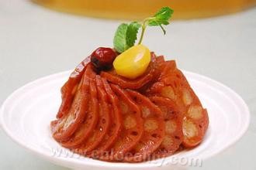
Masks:
[[[143,162],[173,155],[202,141],[208,115],[175,61],[151,53],[143,76],[95,72],[85,59],[61,89],[51,122],[65,148],[108,162]]]

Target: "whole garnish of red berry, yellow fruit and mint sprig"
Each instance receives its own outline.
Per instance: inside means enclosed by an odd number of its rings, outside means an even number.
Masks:
[[[122,23],[116,29],[113,40],[114,49],[100,47],[92,55],[92,63],[98,70],[107,70],[114,66],[116,73],[129,79],[141,76],[150,63],[150,49],[141,44],[147,26],[160,26],[165,34],[163,25],[169,24],[173,10],[161,8],[154,16],[143,22]],[[140,39],[135,46],[139,29]],[[119,55],[118,55],[119,54]],[[117,56],[118,55],[118,56]]]

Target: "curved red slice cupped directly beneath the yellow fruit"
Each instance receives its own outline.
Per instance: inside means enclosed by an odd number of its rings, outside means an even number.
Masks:
[[[140,87],[143,87],[146,83],[154,80],[156,76],[160,74],[159,65],[162,59],[163,57],[156,57],[154,53],[151,53],[152,61],[150,62],[147,71],[144,73],[144,75],[138,77],[135,80],[130,80],[123,76],[119,76],[114,70],[108,72],[102,71],[101,76],[106,78],[106,80],[109,82],[119,85],[119,87],[122,87],[123,89],[140,89]]]

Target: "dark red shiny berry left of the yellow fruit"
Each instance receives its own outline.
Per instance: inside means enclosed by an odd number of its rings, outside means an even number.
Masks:
[[[91,62],[99,70],[112,68],[112,63],[116,58],[116,52],[111,48],[99,47],[91,54]]]

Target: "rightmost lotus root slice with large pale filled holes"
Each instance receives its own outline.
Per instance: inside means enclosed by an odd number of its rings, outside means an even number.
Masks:
[[[176,99],[175,102],[179,107],[185,109],[185,117],[183,121],[183,145],[186,148],[192,148],[199,145],[206,134],[209,118],[206,109],[202,107],[199,97],[196,96],[195,92],[189,86],[189,82],[185,79],[185,76],[180,70],[176,69],[173,73],[170,73],[164,83],[170,86],[171,84],[168,82],[171,82],[171,80],[175,82],[174,80],[176,78],[179,78],[180,81],[179,83],[176,83],[178,84],[177,87],[173,86],[175,94],[178,96],[178,99]]]

